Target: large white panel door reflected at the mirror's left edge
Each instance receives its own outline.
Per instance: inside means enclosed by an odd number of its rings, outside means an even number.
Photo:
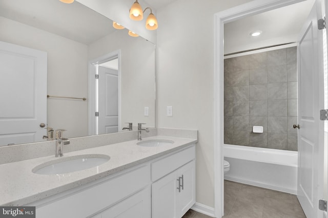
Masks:
[[[0,41],[0,78],[0,146],[42,141],[47,53]]]

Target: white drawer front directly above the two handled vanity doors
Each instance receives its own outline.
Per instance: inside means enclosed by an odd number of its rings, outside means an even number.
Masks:
[[[153,162],[151,164],[152,181],[156,181],[161,177],[168,175],[193,159],[195,159],[195,145]]]

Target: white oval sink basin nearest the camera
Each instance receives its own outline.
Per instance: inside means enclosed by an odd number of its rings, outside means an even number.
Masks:
[[[65,174],[91,167],[99,166],[100,164],[109,161],[110,156],[101,154],[76,155],[72,157],[61,157],[43,164],[40,164],[32,169],[35,174],[54,175]]]

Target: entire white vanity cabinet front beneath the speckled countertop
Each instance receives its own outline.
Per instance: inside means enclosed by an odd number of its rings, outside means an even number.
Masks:
[[[195,203],[195,144],[33,202],[36,218],[180,218]]]

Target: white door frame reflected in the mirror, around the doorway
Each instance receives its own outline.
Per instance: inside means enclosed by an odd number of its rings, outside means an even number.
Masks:
[[[114,52],[111,52],[109,54],[103,55],[101,57],[95,58],[88,63],[89,68],[89,75],[88,75],[88,82],[89,82],[89,122],[88,122],[88,131],[89,135],[96,135],[97,133],[97,119],[95,116],[95,112],[97,109],[97,99],[95,98],[97,93],[97,86],[95,83],[95,74],[96,74],[96,65],[102,64],[105,62],[108,62],[110,60],[113,60],[117,58],[118,59],[118,129],[121,128],[121,72],[120,72],[120,66],[121,66],[121,58],[120,58],[120,50],[116,50]]]

